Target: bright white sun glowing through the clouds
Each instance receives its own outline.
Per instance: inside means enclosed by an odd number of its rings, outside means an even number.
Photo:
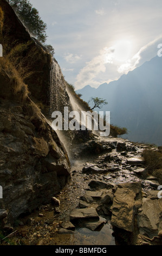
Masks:
[[[127,40],[120,40],[114,45],[114,59],[125,62],[131,57],[132,44]]]

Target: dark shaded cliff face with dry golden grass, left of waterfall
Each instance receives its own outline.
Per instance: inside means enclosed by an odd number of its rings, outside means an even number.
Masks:
[[[0,41],[4,50],[0,58],[0,221],[4,227],[49,202],[66,184],[70,166],[59,137],[34,103],[49,109],[51,56],[30,37],[5,0],[0,1],[0,7],[4,15]]]

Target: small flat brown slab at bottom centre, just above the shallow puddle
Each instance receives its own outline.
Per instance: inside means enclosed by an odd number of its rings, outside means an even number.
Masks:
[[[70,214],[70,220],[79,220],[79,219],[95,219],[99,220],[99,215],[96,212],[95,208],[86,208],[86,209],[75,209]]]

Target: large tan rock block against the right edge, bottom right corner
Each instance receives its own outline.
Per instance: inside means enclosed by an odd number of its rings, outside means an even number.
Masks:
[[[143,198],[141,209],[142,211],[138,214],[139,232],[152,239],[162,230],[162,200]]]

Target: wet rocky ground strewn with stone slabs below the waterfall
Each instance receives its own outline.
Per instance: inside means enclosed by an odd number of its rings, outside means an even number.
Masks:
[[[146,147],[110,137],[74,148],[66,187],[50,204],[21,216],[3,243],[161,245],[160,184],[147,173]]]

